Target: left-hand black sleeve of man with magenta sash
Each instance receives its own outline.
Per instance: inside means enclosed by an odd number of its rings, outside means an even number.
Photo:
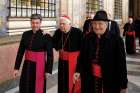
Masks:
[[[24,45],[24,33],[23,33],[20,44],[19,44],[14,69],[19,70],[24,52],[25,52],[25,45]]]

